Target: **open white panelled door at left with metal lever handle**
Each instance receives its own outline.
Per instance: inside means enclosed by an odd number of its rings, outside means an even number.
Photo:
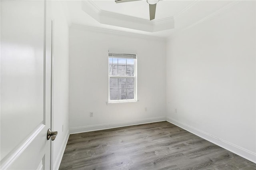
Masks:
[[[44,0],[0,1],[0,169],[50,169],[49,8]]]

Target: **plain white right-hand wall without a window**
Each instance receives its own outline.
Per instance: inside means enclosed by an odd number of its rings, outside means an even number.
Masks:
[[[254,162],[255,7],[239,2],[180,32],[166,54],[167,120]]]

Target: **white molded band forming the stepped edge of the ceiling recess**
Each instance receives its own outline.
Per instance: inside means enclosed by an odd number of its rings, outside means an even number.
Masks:
[[[81,8],[101,24],[130,28],[146,32],[158,32],[174,28],[174,18],[168,17],[161,20],[145,20],[133,16],[117,14],[101,10],[92,0],[83,0]]]

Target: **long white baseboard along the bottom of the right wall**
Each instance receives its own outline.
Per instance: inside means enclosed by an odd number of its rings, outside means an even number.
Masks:
[[[207,134],[207,133],[205,133],[201,130],[198,130],[194,127],[191,127],[189,125],[186,125],[180,121],[176,121],[170,117],[166,117],[166,121],[168,121],[169,123],[172,123],[180,128],[183,128],[183,129],[187,130],[188,132],[191,132],[197,136],[200,136],[201,138],[204,138],[205,140],[208,140],[226,150],[229,150],[230,152],[233,152],[239,156],[242,156],[243,158],[246,158],[247,160],[250,160],[250,161],[256,163],[256,154],[253,152],[250,152],[250,151],[243,149],[239,146],[236,146],[234,144],[226,142],[225,140],[222,140],[220,138],[216,138],[215,136]]]

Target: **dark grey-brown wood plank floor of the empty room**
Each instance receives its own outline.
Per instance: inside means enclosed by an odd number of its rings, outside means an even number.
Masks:
[[[256,170],[256,164],[168,122],[71,134],[60,170]]]

